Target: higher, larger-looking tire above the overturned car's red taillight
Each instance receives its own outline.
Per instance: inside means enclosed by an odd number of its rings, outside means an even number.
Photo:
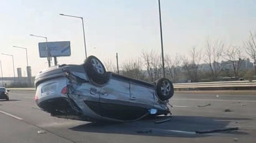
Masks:
[[[86,58],[84,62],[84,70],[86,70],[86,74],[92,83],[104,85],[109,80],[109,74],[107,74],[101,60],[93,55]]]

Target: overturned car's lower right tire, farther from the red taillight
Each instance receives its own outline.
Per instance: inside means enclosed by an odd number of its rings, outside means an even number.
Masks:
[[[170,99],[174,95],[174,85],[167,78],[157,80],[157,96],[161,101]]]

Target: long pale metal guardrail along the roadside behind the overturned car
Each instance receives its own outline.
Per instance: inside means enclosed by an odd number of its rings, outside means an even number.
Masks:
[[[200,83],[174,83],[174,88],[235,88],[235,87],[256,87],[256,80],[245,81],[214,81]],[[31,90],[36,88],[7,88],[8,90]]]

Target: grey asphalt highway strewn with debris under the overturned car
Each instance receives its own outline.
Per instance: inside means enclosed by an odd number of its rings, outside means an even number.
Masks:
[[[255,142],[256,91],[176,91],[172,118],[124,124],[91,123],[51,117],[34,102],[34,91],[11,91],[0,101],[2,142]],[[205,106],[208,105],[208,106]],[[204,106],[204,107],[199,107]],[[230,109],[230,112],[225,112]],[[239,131],[194,131],[239,127]],[[37,131],[43,131],[42,134]]]

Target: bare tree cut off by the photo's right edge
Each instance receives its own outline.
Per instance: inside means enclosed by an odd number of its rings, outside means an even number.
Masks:
[[[256,35],[252,35],[252,32],[250,32],[249,39],[244,42],[244,48],[245,52],[254,60],[254,71],[255,71],[255,77],[256,77]]]

